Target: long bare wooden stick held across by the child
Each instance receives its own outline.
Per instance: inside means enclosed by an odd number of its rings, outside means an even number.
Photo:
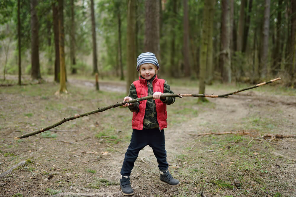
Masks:
[[[250,86],[248,88],[240,89],[240,90],[237,90],[235,92],[231,92],[231,93],[227,93],[227,94],[221,94],[221,95],[209,95],[209,94],[162,94],[160,96],[160,98],[166,98],[166,97],[179,97],[179,98],[183,98],[184,96],[210,97],[210,98],[225,98],[225,97],[227,97],[229,95],[236,94],[236,93],[239,93],[239,92],[242,92],[242,91],[245,91],[245,90],[250,90],[252,88],[257,88],[257,87],[259,87],[261,85],[272,83],[272,82],[275,82],[275,81],[280,80],[280,79],[281,78],[276,78],[276,79],[270,80],[268,82],[259,83],[257,85],[253,85],[253,86]],[[152,99],[152,98],[153,98],[152,96],[145,96],[145,97],[140,97],[138,99],[133,99],[133,100],[130,100],[130,101],[123,101],[123,102],[120,102],[120,103],[117,102],[115,104],[111,104],[111,105],[108,105],[108,106],[99,107],[98,109],[93,110],[93,111],[90,111],[90,112],[85,112],[83,114],[77,114],[77,115],[74,115],[74,116],[70,116],[70,117],[64,118],[64,119],[60,120],[59,122],[54,123],[53,125],[50,125],[48,127],[41,128],[41,129],[36,130],[36,131],[32,131],[30,133],[23,134],[21,136],[15,137],[14,139],[17,140],[17,139],[21,139],[21,138],[27,138],[29,136],[36,135],[38,133],[42,133],[44,131],[47,131],[49,129],[52,129],[54,127],[57,127],[57,126],[63,124],[64,122],[67,122],[67,121],[70,121],[70,120],[74,120],[76,118],[81,118],[83,116],[88,116],[88,115],[95,114],[95,113],[98,113],[98,112],[104,112],[107,109],[111,109],[111,108],[123,106],[126,103],[130,103],[131,104],[131,103],[135,103],[135,102],[139,102],[139,101],[143,101],[143,100],[147,100],[147,99]]]

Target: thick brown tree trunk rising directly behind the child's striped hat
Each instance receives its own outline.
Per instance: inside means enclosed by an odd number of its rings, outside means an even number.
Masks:
[[[154,53],[160,60],[159,43],[159,2],[158,0],[145,1],[145,38],[144,52]]]

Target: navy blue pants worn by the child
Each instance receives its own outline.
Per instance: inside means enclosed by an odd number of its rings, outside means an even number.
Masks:
[[[126,150],[120,174],[122,176],[130,176],[134,163],[139,155],[139,151],[149,145],[157,159],[160,171],[168,169],[165,150],[165,132],[156,129],[133,129],[131,135],[131,143]]]

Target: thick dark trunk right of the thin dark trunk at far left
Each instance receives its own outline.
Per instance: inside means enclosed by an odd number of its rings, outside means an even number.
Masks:
[[[36,12],[37,0],[31,0],[31,77],[40,79],[38,18]]]

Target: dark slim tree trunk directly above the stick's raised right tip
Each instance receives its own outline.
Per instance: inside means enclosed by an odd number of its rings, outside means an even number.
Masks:
[[[276,46],[274,48],[274,64],[273,64],[273,74],[277,75],[277,73],[281,70],[281,12],[282,12],[282,2],[283,0],[279,0],[278,8],[277,8],[277,20],[276,20]]]

